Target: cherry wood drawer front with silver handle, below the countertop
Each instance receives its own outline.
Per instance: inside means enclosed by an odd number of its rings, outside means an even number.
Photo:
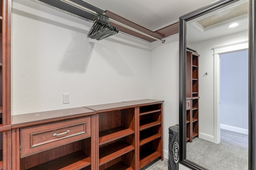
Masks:
[[[20,129],[20,156],[28,156],[91,136],[91,117]]]

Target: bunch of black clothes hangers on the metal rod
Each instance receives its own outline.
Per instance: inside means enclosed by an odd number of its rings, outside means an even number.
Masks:
[[[97,12],[97,19],[88,33],[91,39],[101,40],[118,33],[118,28],[109,24],[109,17]]]

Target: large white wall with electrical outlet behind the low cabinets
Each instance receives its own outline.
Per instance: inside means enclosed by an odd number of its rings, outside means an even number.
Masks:
[[[122,34],[91,40],[91,27],[36,2],[13,1],[13,115],[151,97],[150,44]],[[62,104],[63,93],[70,104]]]

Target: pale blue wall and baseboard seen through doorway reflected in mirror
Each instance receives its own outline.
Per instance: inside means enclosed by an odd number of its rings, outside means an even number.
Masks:
[[[220,129],[248,135],[248,50],[220,54]]]

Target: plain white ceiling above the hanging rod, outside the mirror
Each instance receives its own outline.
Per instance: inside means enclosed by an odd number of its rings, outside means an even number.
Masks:
[[[83,0],[109,10],[142,27],[156,31],[173,23],[180,16],[216,0]]]

